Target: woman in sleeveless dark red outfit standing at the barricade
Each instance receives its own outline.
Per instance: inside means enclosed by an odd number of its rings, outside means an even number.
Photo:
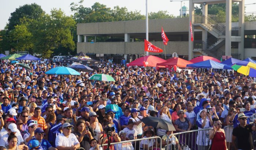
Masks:
[[[212,150],[226,150],[226,139],[225,131],[221,128],[221,120],[214,122],[213,129],[210,130],[209,139],[212,140],[211,149]]]

